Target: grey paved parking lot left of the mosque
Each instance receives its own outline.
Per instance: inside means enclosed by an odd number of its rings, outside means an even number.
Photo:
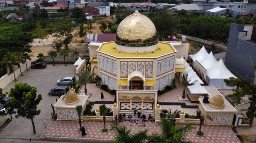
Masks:
[[[40,115],[34,119],[36,126],[36,135],[33,135],[33,127],[31,120],[26,118],[14,119],[5,129],[0,133],[0,138],[34,138],[39,139],[40,135],[44,132],[44,123],[49,125],[51,121],[52,108],[51,104],[56,103],[57,97],[50,97],[48,91],[57,86],[56,81],[62,77],[73,77],[74,66],[73,65],[47,65],[45,69],[29,69],[24,72],[24,76],[19,77],[17,82],[27,83],[36,87],[37,94],[42,94],[42,101],[38,105],[38,109],[41,110]],[[16,82],[11,82],[4,88],[4,92],[9,92],[14,87]],[[7,117],[10,117],[9,114]],[[14,116],[13,116],[14,117]],[[0,117],[0,120],[3,120]]]

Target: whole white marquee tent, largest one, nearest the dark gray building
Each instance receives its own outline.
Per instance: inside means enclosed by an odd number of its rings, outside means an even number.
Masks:
[[[227,86],[224,82],[224,79],[229,79],[229,77],[237,78],[226,68],[222,59],[220,59],[215,66],[207,70],[206,81],[217,89],[232,89],[232,87]]]

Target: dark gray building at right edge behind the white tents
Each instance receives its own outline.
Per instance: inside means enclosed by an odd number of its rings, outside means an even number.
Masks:
[[[225,58],[226,67],[239,79],[254,81],[256,24],[231,23]]]

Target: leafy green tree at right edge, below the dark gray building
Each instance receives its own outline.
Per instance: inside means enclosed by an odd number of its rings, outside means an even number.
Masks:
[[[236,105],[241,104],[241,99],[245,95],[251,95],[249,97],[250,106],[247,110],[247,117],[254,118],[256,117],[256,84],[251,84],[246,79],[236,79],[234,77],[230,77],[229,79],[224,79],[227,86],[233,87],[233,94],[228,95],[231,98],[232,102]],[[234,88],[236,87],[236,88]]]

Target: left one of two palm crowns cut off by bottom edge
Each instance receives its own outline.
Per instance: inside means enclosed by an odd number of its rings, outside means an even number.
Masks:
[[[111,143],[146,143],[148,129],[138,132],[131,132],[125,125],[112,125],[112,130],[115,134],[114,140]]]

